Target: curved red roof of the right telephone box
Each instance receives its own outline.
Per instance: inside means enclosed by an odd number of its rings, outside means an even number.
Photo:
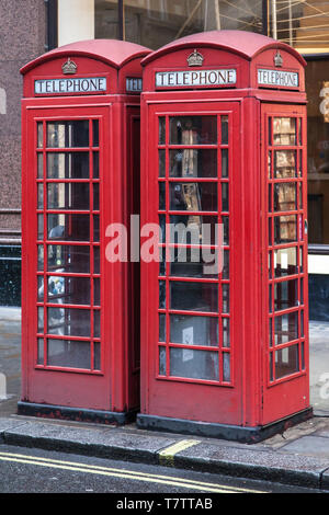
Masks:
[[[283,49],[295,56],[303,66],[306,66],[305,59],[290,45],[273,39],[272,37],[247,31],[209,31],[191,34],[190,36],[175,39],[158,50],[152,52],[143,59],[141,65],[145,66],[170,52],[192,47],[224,49],[238,54],[249,60],[265,49]]]

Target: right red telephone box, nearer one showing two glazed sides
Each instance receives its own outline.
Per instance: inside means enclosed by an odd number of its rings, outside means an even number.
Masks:
[[[257,442],[311,415],[305,61],[214,31],[141,65],[140,222],[166,231],[141,260],[137,423]]]

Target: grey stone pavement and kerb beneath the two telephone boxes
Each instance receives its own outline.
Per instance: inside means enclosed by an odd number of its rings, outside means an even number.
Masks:
[[[0,308],[0,443],[329,492],[329,324],[326,322],[310,322],[313,417],[257,444],[141,430],[135,423],[117,426],[19,415],[20,356],[20,309]],[[3,376],[5,386],[1,384]]]

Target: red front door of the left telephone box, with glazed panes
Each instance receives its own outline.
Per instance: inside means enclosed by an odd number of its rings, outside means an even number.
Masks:
[[[111,191],[109,121],[105,106],[27,110],[23,281],[37,313],[24,325],[23,394],[34,402],[111,405],[100,238],[109,209],[101,191]]]

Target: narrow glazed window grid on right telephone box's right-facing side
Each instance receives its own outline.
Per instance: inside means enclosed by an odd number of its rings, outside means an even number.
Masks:
[[[302,118],[268,118],[269,381],[303,373]]]

